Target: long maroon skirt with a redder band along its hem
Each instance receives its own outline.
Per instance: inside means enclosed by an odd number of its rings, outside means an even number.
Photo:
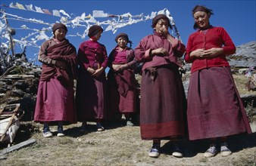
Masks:
[[[185,135],[186,97],[176,67],[142,72],[140,131],[142,140]]]

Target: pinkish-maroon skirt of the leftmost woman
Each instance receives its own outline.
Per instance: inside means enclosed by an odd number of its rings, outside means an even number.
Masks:
[[[57,78],[39,81],[34,121],[68,121],[76,123],[73,81],[68,87]]]

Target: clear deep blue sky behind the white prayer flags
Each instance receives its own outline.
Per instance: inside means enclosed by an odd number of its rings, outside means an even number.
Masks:
[[[211,17],[210,23],[213,26],[223,26],[226,31],[229,33],[233,42],[236,46],[245,44],[247,42],[252,42],[256,40],[256,29],[255,29],[255,0],[242,0],[242,1],[111,1],[111,0],[93,0],[93,1],[67,1],[67,0],[26,0],[26,1],[1,1],[1,5],[10,5],[11,2],[14,4],[18,2],[21,5],[33,5],[43,9],[48,9],[48,11],[53,10],[64,10],[67,14],[70,14],[71,17],[80,16],[85,13],[86,15],[92,14],[92,11],[104,11],[108,14],[122,15],[130,13],[133,16],[143,14],[144,16],[150,15],[152,11],[161,11],[164,8],[167,8],[170,11],[173,20],[176,23],[176,27],[180,32],[180,37],[183,43],[186,45],[187,39],[192,32],[195,30],[192,28],[194,20],[192,18],[192,8],[195,5],[205,5],[208,8],[211,8],[214,11],[214,15]],[[36,19],[43,20],[45,23],[55,23],[60,21],[60,17],[55,17],[49,14],[40,14],[28,10],[20,10],[17,8],[5,8],[2,7],[8,14],[14,14],[27,19]],[[2,17],[2,14],[1,14]],[[9,16],[8,16],[9,17]],[[111,20],[112,18],[97,18],[98,21]],[[39,29],[38,23],[24,22],[20,20],[8,20],[8,23],[11,27],[16,29],[16,35],[14,38],[20,40],[30,34],[29,30],[20,29],[21,25],[26,25],[30,29],[35,28]],[[48,27],[47,25],[41,25],[40,27]],[[106,26],[103,26],[106,28]],[[85,27],[68,27],[69,32],[67,35],[75,35],[76,32],[83,33]],[[117,29],[117,32],[113,34],[111,31],[104,32],[99,40],[100,43],[106,46],[108,54],[115,47],[116,42],[114,42],[115,36],[120,32],[126,32],[130,40],[133,41],[132,48],[135,48],[138,45],[140,39],[145,35],[151,34],[153,32],[151,28],[151,20],[142,21],[140,23],[134,23],[130,26],[124,26],[123,28]],[[67,36],[70,42],[76,47],[79,47],[80,43],[88,40],[86,38],[81,38],[80,36]],[[4,40],[3,40],[4,41]],[[37,42],[37,45],[40,45],[43,41]],[[20,53],[20,46],[15,45],[15,51]],[[30,60],[36,58],[38,53],[38,48],[27,47],[27,57]],[[36,60],[36,63],[38,61]],[[40,64],[40,63],[38,63]]]

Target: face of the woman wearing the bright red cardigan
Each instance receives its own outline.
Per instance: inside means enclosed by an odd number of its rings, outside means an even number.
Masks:
[[[204,11],[197,11],[193,16],[199,29],[204,29],[209,26],[209,18],[211,16],[210,14],[207,14]]]

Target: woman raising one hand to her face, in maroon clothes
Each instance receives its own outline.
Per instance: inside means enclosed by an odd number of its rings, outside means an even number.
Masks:
[[[153,140],[149,156],[158,157],[160,141],[173,142],[175,157],[183,157],[178,141],[184,137],[186,96],[179,72],[178,57],[185,45],[170,35],[169,18],[158,14],[152,22],[154,34],[145,36],[135,48],[136,59],[143,62],[140,100],[142,140]]]

